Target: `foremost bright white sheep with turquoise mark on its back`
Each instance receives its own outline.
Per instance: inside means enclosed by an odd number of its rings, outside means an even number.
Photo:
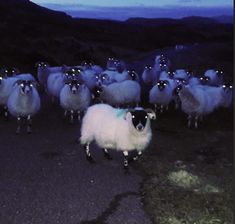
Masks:
[[[128,152],[137,150],[138,156],[142,154],[152,137],[150,119],[155,118],[150,109],[121,110],[107,104],[89,107],[82,120],[80,137],[88,161],[94,161],[89,145],[95,141],[109,159],[108,149],[122,151],[124,168],[128,168]]]

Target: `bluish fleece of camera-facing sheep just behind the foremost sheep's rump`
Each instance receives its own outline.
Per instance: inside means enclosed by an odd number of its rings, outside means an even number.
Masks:
[[[81,85],[74,94],[69,85],[64,85],[60,92],[60,105],[65,110],[84,111],[91,103],[91,93],[85,85]]]

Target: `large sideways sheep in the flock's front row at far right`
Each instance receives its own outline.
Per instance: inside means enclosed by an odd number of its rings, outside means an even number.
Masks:
[[[225,106],[230,92],[223,86],[186,85],[179,91],[181,109],[188,115],[188,127],[194,119],[194,127],[198,127],[198,119],[213,112],[220,106]]]

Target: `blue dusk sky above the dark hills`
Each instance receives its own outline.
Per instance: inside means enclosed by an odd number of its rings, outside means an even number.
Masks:
[[[130,17],[182,18],[233,15],[233,0],[32,0],[32,2],[64,11],[78,18],[126,20]]]

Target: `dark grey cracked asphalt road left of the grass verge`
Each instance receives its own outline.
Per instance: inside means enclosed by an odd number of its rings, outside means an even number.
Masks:
[[[122,155],[103,157],[95,145],[90,164],[78,144],[80,124],[42,98],[33,133],[15,134],[16,120],[0,117],[0,223],[151,223],[143,211],[142,177]]]

